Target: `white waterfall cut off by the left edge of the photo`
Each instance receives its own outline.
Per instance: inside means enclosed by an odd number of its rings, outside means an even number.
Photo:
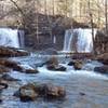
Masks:
[[[24,33],[18,29],[0,28],[0,45],[22,48],[24,45]]]

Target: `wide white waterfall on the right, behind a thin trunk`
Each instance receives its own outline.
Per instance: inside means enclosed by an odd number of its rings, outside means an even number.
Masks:
[[[96,35],[94,29],[94,38]],[[92,29],[69,29],[66,30],[64,52],[91,53],[93,51]]]

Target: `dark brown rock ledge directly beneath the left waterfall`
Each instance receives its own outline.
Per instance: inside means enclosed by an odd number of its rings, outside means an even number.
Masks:
[[[15,48],[0,46],[0,57],[27,56],[29,53]]]

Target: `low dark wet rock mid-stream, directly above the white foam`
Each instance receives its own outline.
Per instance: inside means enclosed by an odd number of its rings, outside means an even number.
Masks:
[[[49,70],[53,70],[53,71],[66,71],[66,70],[67,70],[66,67],[60,66],[60,65],[58,65],[58,66],[55,66],[55,65],[48,65],[46,68],[48,68]]]

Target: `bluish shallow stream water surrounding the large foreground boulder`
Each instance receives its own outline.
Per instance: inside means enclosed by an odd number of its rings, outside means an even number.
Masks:
[[[19,59],[18,59],[19,60]],[[35,58],[21,58],[23,64],[30,64],[35,67]],[[33,62],[32,62],[33,60]],[[64,63],[64,62],[63,62]],[[0,108],[108,108],[108,77],[93,71],[93,66],[98,66],[97,62],[89,63],[90,70],[76,71],[67,66],[67,71],[49,71],[45,66],[38,67],[40,73],[26,75],[12,71],[10,75],[18,78],[19,82],[9,82],[10,87],[2,93],[3,103]],[[93,66],[92,66],[93,65]],[[36,102],[21,103],[13,93],[18,87],[28,82],[53,83],[66,89],[64,100],[43,100],[38,98]],[[81,96],[80,93],[84,93]]]

